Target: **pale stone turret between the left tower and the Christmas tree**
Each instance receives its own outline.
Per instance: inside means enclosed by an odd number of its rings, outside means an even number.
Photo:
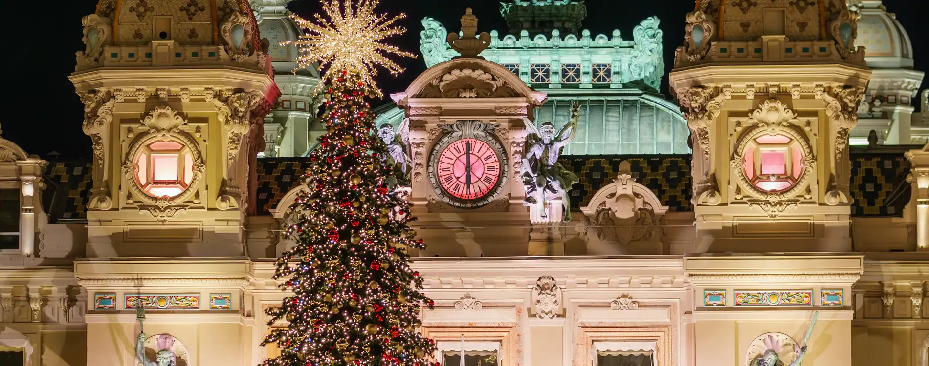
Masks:
[[[295,45],[282,42],[297,40],[302,31],[290,19],[287,3],[292,0],[251,0],[258,20],[258,30],[268,38],[268,56],[273,57],[274,80],[281,88],[281,100],[265,119],[266,149],[263,157],[299,157],[325,133],[316,120],[319,98],[314,97],[320,83],[316,69],[300,69]]]

